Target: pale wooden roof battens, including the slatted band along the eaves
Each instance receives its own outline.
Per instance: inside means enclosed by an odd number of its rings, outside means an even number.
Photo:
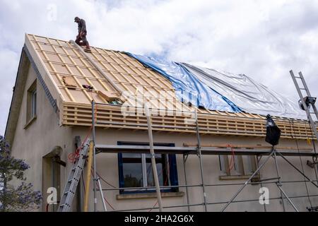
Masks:
[[[113,50],[92,47],[88,53],[90,62],[79,49],[63,40],[48,37],[26,35],[28,49],[37,56],[37,64],[46,71],[49,89],[57,98],[60,111],[61,126],[91,126],[91,100],[95,100],[98,112],[96,126],[114,129],[147,129],[146,116],[124,116],[122,106],[110,105],[98,95],[98,91],[112,92],[119,95],[118,90],[126,90],[139,95],[139,88],[149,93],[144,99],[150,102],[150,109],[157,112],[172,112],[171,115],[154,115],[154,131],[171,131],[175,133],[195,133],[193,124],[185,123],[191,118],[192,108],[179,102],[172,83],[155,71],[146,68],[139,61],[128,55]],[[94,64],[98,65],[94,66]],[[39,66],[39,65],[37,65]],[[107,73],[109,81],[98,71]],[[69,87],[64,83],[64,77],[71,78],[74,83]],[[94,89],[88,92],[83,85]],[[167,100],[160,99],[160,91],[167,93]],[[165,109],[157,109],[160,103]],[[138,107],[136,107],[138,109]],[[171,110],[170,110],[171,109]],[[178,114],[183,110],[184,114]],[[265,117],[246,112],[230,113],[197,109],[200,133],[256,136],[263,137],[266,133]],[[312,138],[313,133],[307,121],[274,117],[282,131],[282,138]],[[312,138],[313,139],[313,138]]]

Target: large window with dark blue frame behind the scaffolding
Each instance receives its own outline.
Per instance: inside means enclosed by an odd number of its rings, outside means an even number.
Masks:
[[[137,143],[120,143],[119,145],[137,145]],[[148,143],[138,143],[148,145]],[[169,144],[155,144],[169,145]],[[170,145],[172,146],[172,145]],[[121,188],[145,188],[145,189],[122,189],[121,194],[155,192],[155,189],[147,187],[155,186],[151,155],[148,153],[119,153],[119,186]],[[175,186],[177,182],[177,164],[175,155],[155,154],[158,179],[160,186]],[[177,191],[177,189],[162,189],[161,191]]]

